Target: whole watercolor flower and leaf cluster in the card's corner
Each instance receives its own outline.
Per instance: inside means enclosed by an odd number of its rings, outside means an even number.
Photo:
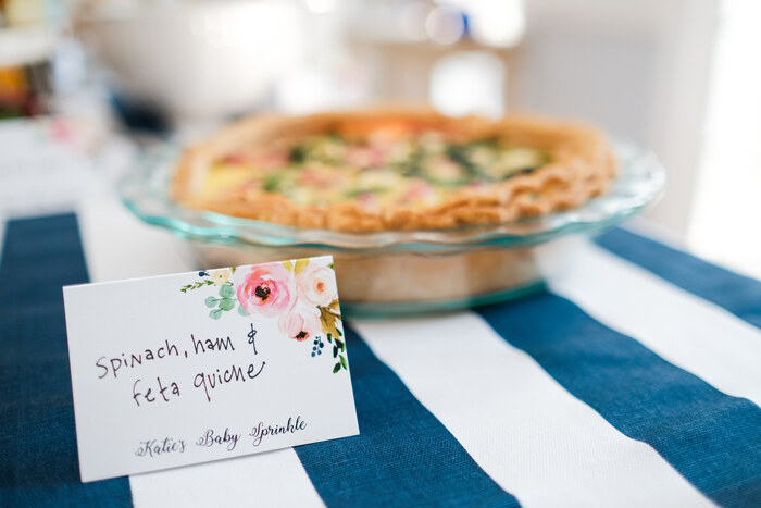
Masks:
[[[204,301],[211,319],[237,307],[241,315],[277,318],[279,331],[297,342],[312,343],[312,357],[320,357],[325,342],[333,348],[333,372],[348,370],[342,340],[341,314],[333,264],[298,259],[198,272],[200,281],[180,287],[188,293],[219,287]]]

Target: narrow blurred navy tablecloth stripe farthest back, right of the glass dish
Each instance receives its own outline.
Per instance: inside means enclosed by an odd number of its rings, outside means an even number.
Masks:
[[[595,241],[675,286],[761,327],[761,282],[620,227],[598,236]]]

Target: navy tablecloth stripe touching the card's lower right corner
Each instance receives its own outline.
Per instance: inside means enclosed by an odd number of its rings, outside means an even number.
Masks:
[[[519,506],[349,326],[360,435],[296,453],[328,506]]]

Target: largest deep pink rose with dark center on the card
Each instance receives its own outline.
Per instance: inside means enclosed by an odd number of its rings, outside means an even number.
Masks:
[[[253,267],[237,286],[238,301],[249,314],[274,318],[296,305],[294,275],[279,263]]]

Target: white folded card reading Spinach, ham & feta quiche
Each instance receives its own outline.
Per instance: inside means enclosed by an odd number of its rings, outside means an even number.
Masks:
[[[63,293],[84,482],[359,433],[330,257]]]

